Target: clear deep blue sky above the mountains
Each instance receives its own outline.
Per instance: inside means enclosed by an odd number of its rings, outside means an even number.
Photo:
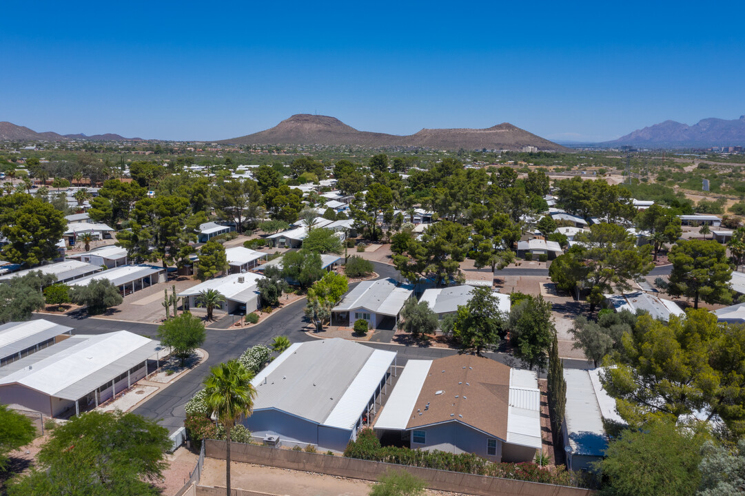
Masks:
[[[745,114],[744,1],[9,1],[0,121],[227,139],[510,122],[614,139]]]

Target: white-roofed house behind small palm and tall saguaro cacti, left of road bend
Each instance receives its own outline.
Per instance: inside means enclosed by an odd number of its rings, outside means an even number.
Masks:
[[[256,285],[264,276],[253,272],[228,274],[227,276],[209,279],[178,293],[183,297],[184,310],[200,307],[200,293],[205,290],[217,290],[223,295],[225,302],[219,303],[215,309],[226,311],[228,314],[247,313],[258,310],[261,304],[259,287]]]

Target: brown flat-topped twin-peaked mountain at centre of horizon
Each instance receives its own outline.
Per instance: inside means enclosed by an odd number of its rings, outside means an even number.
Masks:
[[[221,143],[232,144],[325,144],[364,147],[426,147],[457,150],[486,148],[520,150],[524,146],[539,150],[563,150],[512,124],[498,124],[488,129],[422,129],[409,136],[358,131],[328,115],[296,114],[271,129]]]

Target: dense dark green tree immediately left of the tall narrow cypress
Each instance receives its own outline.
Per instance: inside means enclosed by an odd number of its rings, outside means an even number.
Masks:
[[[530,296],[510,310],[510,340],[515,346],[515,356],[527,362],[528,368],[545,368],[551,342],[556,334],[551,317],[551,302],[543,296]]]

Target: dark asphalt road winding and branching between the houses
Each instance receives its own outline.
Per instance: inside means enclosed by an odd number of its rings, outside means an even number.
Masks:
[[[373,262],[375,272],[382,278],[399,278],[399,273],[394,267],[386,264]],[[351,287],[354,284],[350,284]],[[184,404],[202,387],[204,377],[209,373],[209,367],[214,366],[232,358],[237,358],[241,353],[251,346],[263,344],[269,346],[274,337],[287,336],[293,343],[314,340],[302,331],[308,324],[305,320],[305,300],[299,300],[289,305],[282,311],[277,311],[263,322],[250,328],[229,329],[207,329],[207,339],[203,349],[209,354],[209,358],[197,368],[184,375],[178,381],[161,390],[157,395],[150,398],[135,413],[159,419],[160,424],[168,427],[173,432],[183,425],[185,418]],[[118,322],[105,319],[77,318],[54,315],[35,315],[34,319],[48,319],[63,325],[75,328],[75,334],[103,334],[105,332],[125,330],[148,337],[155,337],[157,325],[135,322]],[[410,359],[434,359],[446,357],[457,353],[455,350],[431,348],[427,346],[399,346],[386,343],[367,343],[378,349],[387,349],[398,352],[398,365],[405,365]],[[519,360],[515,360],[509,354],[487,353],[486,356],[509,365],[521,366]],[[586,368],[589,366],[584,360],[565,360],[567,368]]]

